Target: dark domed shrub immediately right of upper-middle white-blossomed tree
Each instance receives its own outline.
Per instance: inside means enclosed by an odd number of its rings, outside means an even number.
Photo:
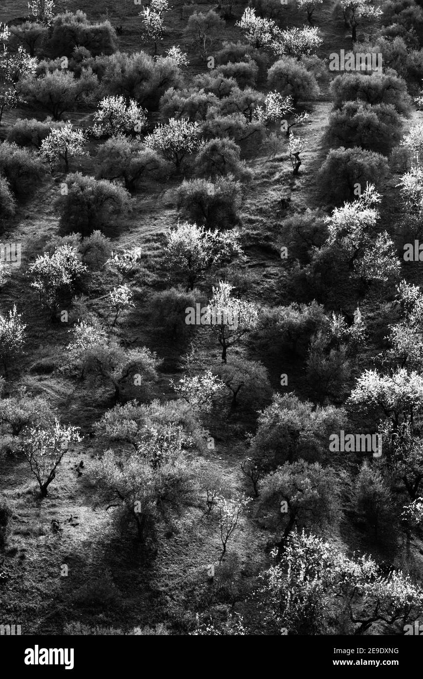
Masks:
[[[245,163],[240,160],[240,147],[229,139],[210,139],[196,156],[196,174],[200,177],[232,175],[235,179],[250,176]]]

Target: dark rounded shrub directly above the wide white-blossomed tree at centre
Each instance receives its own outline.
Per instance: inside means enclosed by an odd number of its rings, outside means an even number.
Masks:
[[[241,185],[233,177],[184,180],[177,190],[178,210],[184,219],[207,228],[225,229],[238,221]]]

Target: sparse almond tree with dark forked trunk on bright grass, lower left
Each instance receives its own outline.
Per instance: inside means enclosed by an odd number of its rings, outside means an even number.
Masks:
[[[38,481],[42,498],[47,497],[48,486],[56,477],[56,469],[69,444],[81,440],[79,427],[62,426],[58,420],[48,428],[31,427],[26,430],[24,456]]]

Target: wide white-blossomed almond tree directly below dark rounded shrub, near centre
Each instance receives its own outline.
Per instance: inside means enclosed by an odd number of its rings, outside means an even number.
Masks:
[[[172,274],[186,276],[187,291],[194,290],[205,272],[243,256],[239,236],[231,231],[206,231],[185,222],[170,229],[167,238],[164,265]]]

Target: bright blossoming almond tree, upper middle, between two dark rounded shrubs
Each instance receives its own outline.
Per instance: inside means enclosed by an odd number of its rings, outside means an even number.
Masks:
[[[158,124],[151,134],[147,134],[144,143],[153,151],[160,151],[179,170],[183,158],[196,153],[202,145],[200,124],[170,118],[166,125]]]

